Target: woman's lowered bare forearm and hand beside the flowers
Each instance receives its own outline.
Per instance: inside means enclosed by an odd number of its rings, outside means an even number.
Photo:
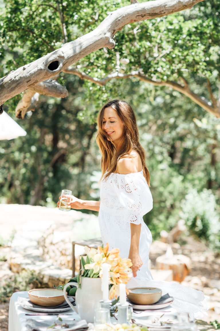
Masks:
[[[140,234],[141,234],[141,224],[132,224],[131,226],[131,245],[128,258],[132,261],[132,272],[133,276],[137,276],[137,271],[140,269],[141,265],[143,264],[140,255],[139,255],[139,241],[140,241]]]

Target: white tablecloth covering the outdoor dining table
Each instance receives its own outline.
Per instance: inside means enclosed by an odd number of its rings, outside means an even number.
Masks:
[[[27,310],[27,309],[21,307],[19,300],[18,300],[19,297],[28,298],[28,292],[27,291],[15,292],[11,296],[10,304],[9,304],[8,331],[28,331],[28,329],[26,327],[26,322],[27,322],[28,318],[32,318],[38,322],[51,321],[51,325],[53,324],[53,321],[57,318],[57,315],[59,315],[62,318],[64,323],[66,323],[70,320],[73,320],[73,319],[75,319],[76,321],[80,320],[79,315],[75,311],[73,311],[71,308],[69,310],[65,311],[63,314],[56,313],[55,315],[49,315],[49,314],[42,315],[38,312]],[[29,314],[31,314],[31,315],[29,315]],[[167,314],[168,316],[170,316],[172,314],[173,316],[176,316],[177,312],[171,306],[162,308],[160,310],[151,310],[151,311],[134,310],[133,318],[140,318],[140,317],[149,316],[149,315],[153,315],[153,316],[157,317],[157,316],[160,316],[163,314],[164,315]],[[115,317],[110,318],[110,323],[117,324],[117,315]],[[89,329],[93,329],[93,325],[91,323],[89,323]],[[52,329],[48,329],[48,330],[52,330]]]

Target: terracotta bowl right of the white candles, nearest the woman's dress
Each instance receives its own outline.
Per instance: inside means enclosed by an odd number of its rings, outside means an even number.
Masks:
[[[133,287],[127,297],[136,305],[152,305],[160,300],[161,295],[162,290],[157,287]]]

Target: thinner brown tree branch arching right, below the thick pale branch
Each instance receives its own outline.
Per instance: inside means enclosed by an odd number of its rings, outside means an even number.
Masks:
[[[204,98],[200,97],[199,95],[195,94],[192,90],[190,90],[187,80],[183,77],[180,77],[184,81],[184,85],[181,85],[172,80],[159,81],[159,80],[149,79],[146,75],[140,73],[139,71],[132,71],[128,74],[112,72],[103,79],[98,79],[96,77],[88,76],[84,72],[80,72],[77,69],[66,69],[66,70],[64,70],[64,72],[72,73],[74,75],[79,76],[81,79],[90,80],[91,82],[98,84],[98,85],[102,85],[102,86],[105,85],[109,80],[111,80],[113,78],[128,78],[128,77],[136,77],[139,80],[152,84],[154,86],[168,86],[168,87],[171,87],[173,90],[184,94],[185,96],[190,98],[193,102],[195,102],[197,105],[202,107],[207,112],[211,113],[212,115],[216,116],[217,118],[220,118],[219,107],[217,107],[217,105],[211,105],[210,102],[208,102],[207,100],[205,100]]]

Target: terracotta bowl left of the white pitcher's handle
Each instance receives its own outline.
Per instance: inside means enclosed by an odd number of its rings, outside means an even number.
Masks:
[[[54,307],[65,301],[63,291],[56,289],[35,289],[28,292],[30,301],[39,306]]]

